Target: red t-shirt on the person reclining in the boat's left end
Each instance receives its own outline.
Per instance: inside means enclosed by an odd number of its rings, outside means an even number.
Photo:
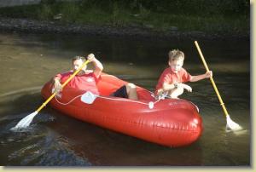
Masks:
[[[70,77],[72,74],[73,74],[73,71],[70,71],[65,73],[59,73],[55,77],[60,77],[61,83],[65,83],[68,77]],[[96,77],[94,72],[89,72],[89,73],[84,73],[82,75],[74,76],[69,81],[69,83],[67,83],[67,85],[74,89],[82,89],[85,91],[90,91],[93,94],[99,95],[99,91],[96,87],[97,82],[98,82],[98,78]]]

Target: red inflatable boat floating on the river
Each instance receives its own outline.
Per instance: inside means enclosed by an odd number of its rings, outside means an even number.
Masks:
[[[148,140],[163,146],[186,146],[197,140],[202,132],[202,120],[197,107],[188,100],[154,100],[152,92],[137,87],[139,100],[109,96],[126,82],[113,75],[102,74],[97,83],[100,95],[84,102],[84,91],[66,86],[61,98],[50,105],[56,110],[87,123],[111,129],[125,135]],[[42,95],[51,95],[46,83]]]

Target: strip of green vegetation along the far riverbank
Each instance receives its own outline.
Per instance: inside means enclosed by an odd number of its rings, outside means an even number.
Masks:
[[[43,0],[38,5],[2,8],[0,15],[158,32],[248,34],[250,30],[248,0]]]

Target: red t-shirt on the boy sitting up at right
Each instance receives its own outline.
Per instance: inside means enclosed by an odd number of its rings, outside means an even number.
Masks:
[[[189,82],[190,79],[191,75],[184,68],[181,68],[179,72],[174,73],[172,72],[171,67],[168,67],[160,75],[160,79],[158,80],[158,83],[156,85],[155,92],[157,92],[158,89],[162,89],[164,83],[186,83]]]

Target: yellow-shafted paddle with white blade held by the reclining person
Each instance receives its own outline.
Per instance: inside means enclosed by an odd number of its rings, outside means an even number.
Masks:
[[[63,83],[61,85],[61,88],[63,89],[67,83],[76,75],[78,74],[83,68],[84,66],[86,66],[88,63],[90,62],[90,60],[86,60],[84,61],[84,63],[82,64],[82,66],[79,67],[79,69],[76,72],[73,72],[73,74],[68,77],[67,81],[65,83]],[[29,126],[29,124],[32,122],[32,119],[38,114],[39,111],[41,111],[44,106],[47,105],[47,103],[49,103],[50,100],[52,100],[52,98],[54,98],[56,95],[56,93],[52,94],[47,100],[44,101],[44,103],[38,107],[38,109],[35,112],[32,112],[31,114],[27,115],[25,118],[22,118],[20,120],[19,123],[16,124],[16,126],[14,128],[12,128],[12,130],[16,130],[16,129],[22,129],[22,128],[26,128]]]

